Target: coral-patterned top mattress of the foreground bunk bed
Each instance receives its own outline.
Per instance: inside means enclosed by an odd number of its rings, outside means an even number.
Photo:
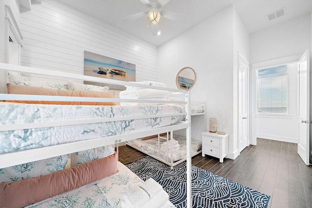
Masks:
[[[2,125],[0,154],[174,125],[181,121],[184,115],[166,114],[184,112],[183,107],[174,104],[111,106],[0,102],[0,123]],[[147,115],[156,115],[156,117],[136,119],[136,117]],[[99,119],[103,119],[105,122],[99,122]],[[79,120],[94,122],[52,127],[34,126],[26,129],[22,127],[26,124],[39,125],[41,123],[75,122]],[[20,125],[21,129],[7,130],[7,126],[10,125]]]

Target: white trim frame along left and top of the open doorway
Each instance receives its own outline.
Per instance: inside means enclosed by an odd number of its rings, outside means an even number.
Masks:
[[[297,63],[301,58],[302,54],[296,54],[292,56],[287,56],[279,59],[274,59],[265,62],[258,62],[251,64],[251,76],[250,76],[250,91],[253,92],[250,96],[250,144],[257,145],[257,137],[256,137],[256,110],[257,110],[257,96],[256,96],[256,87],[257,87],[257,78],[256,78],[256,70],[259,68],[271,67],[274,65],[281,65],[281,64],[291,64]]]

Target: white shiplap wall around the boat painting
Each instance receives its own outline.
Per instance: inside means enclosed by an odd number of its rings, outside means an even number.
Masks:
[[[21,65],[83,74],[86,50],[136,64],[136,81],[157,81],[154,45],[55,0],[32,4],[20,17]]]

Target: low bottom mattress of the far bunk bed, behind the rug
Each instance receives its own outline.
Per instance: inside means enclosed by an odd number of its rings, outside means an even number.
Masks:
[[[186,158],[186,138],[182,136],[173,136],[174,140],[176,140],[179,144],[178,149],[174,149],[173,151],[169,151],[168,154],[168,148],[163,143],[166,142],[165,139],[159,138],[159,145],[158,145],[158,138],[152,138],[147,140],[131,140],[126,142],[126,144],[130,144],[131,146],[136,146],[139,150],[143,150],[144,152],[154,155],[157,158],[161,158],[165,161],[171,162],[171,152],[173,157],[173,162],[176,162],[181,159]],[[170,145],[170,143],[169,143]],[[198,151],[201,150],[202,143],[201,141],[192,139],[191,142],[191,154],[194,155]]]

